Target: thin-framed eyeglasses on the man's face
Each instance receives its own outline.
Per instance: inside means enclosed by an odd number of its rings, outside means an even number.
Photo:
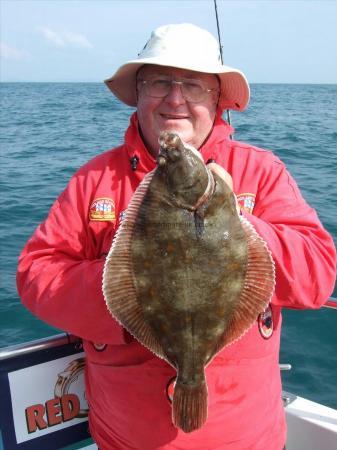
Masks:
[[[180,81],[172,80],[165,76],[156,76],[147,80],[138,80],[144,88],[145,94],[149,97],[164,98],[166,97],[173,84],[179,84],[181,94],[187,102],[198,103],[205,100],[210,92],[219,92],[219,89],[209,89],[201,80],[190,78],[181,79]]]

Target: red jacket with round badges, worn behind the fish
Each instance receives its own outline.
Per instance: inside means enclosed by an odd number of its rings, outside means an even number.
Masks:
[[[133,192],[155,167],[136,114],[125,143],[74,175],[20,256],[23,303],[42,320],[84,339],[90,429],[100,449],[283,448],[280,310],[318,308],[326,301],[336,253],[283,163],[269,151],[230,141],[229,132],[218,118],[200,151],[205,161],[214,159],[232,175],[244,214],[273,254],[273,332],[270,319],[260,317],[207,367],[209,415],[200,430],[184,434],[172,425],[166,389],[175,371],[124,332],[103,300],[105,256]]]

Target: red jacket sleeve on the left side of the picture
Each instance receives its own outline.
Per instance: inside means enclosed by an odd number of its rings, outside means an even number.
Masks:
[[[18,292],[23,304],[48,324],[94,342],[121,344],[122,328],[102,294],[104,258],[94,252],[85,194],[90,182],[84,178],[73,177],[24,247]]]

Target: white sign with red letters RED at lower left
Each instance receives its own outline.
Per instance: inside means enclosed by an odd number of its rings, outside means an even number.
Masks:
[[[8,373],[17,443],[87,420],[84,353]]]

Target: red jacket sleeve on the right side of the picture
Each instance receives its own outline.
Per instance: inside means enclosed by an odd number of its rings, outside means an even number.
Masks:
[[[271,158],[271,164],[260,169],[254,215],[244,215],[267,242],[275,261],[272,303],[319,308],[334,289],[335,246],[284,164]]]

